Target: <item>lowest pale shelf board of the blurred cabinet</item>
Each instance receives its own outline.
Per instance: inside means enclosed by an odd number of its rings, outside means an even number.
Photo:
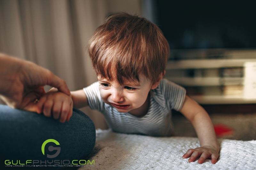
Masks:
[[[190,96],[199,104],[256,104],[256,98],[243,96]]]

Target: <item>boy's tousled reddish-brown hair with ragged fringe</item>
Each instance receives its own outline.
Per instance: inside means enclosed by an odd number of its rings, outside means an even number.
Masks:
[[[101,79],[140,82],[143,74],[154,84],[164,73],[169,44],[162,31],[145,18],[117,13],[98,27],[89,42],[92,67]]]

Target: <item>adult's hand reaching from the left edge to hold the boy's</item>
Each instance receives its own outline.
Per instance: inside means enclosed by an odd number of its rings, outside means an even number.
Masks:
[[[70,95],[66,82],[51,71],[0,53],[0,97],[7,105],[23,109],[45,93],[45,85]]]

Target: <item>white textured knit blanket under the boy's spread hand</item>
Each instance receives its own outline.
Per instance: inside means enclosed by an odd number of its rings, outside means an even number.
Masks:
[[[203,164],[188,162],[182,155],[190,148],[199,147],[197,138],[151,137],[127,135],[109,130],[96,130],[96,144],[92,152],[94,165],[85,169],[256,169],[256,141],[218,139],[220,157],[216,164],[206,159]]]

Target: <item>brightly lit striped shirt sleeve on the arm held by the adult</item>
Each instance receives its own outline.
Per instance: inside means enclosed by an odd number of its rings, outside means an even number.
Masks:
[[[85,87],[83,90],[87,97],[89,107],[92,110],[100,111],[101,97],[100,97],[99,82],[97,81],[95,83],[92,83],[90,86]]]

